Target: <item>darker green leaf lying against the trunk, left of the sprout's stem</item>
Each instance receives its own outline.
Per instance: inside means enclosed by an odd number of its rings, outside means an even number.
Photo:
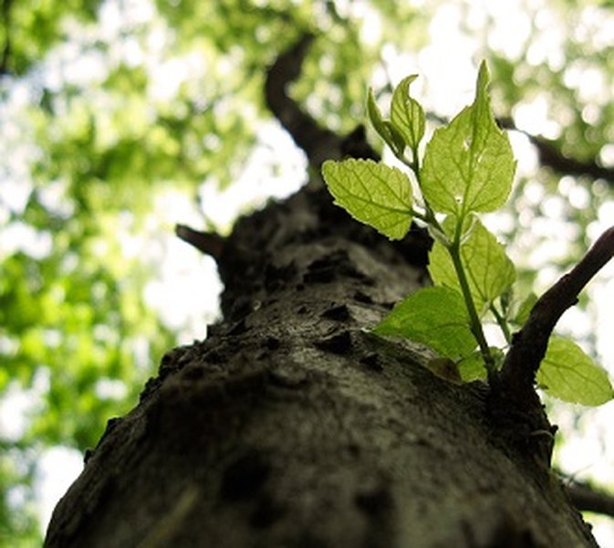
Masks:
[[[463,297],[457,291],[442,287],[422,288],[411,293],[375,326],[373,332],[421,342],[452,360],[471,354],[476,346]]]

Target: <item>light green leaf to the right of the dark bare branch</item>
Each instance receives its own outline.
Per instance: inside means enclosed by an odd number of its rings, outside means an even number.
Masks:
[[[537,371],[549,395],[583,406],[600,406],[614,396],[608,374],[573,341],[552,337]]]

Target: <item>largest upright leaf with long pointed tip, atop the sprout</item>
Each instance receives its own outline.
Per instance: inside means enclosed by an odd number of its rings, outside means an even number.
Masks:
[[[427,144],[421,191],[435,211],[464,218],[471,211],[494,211],[505,204],[515,161],[505,132],[494,122],[483,63],[474,103]]]

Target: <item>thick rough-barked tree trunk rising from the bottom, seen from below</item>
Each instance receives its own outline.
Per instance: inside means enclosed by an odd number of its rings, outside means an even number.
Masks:
[[[224,321],[109,422],[46,545],[596,545],[500,435],[486,385],[369,335],[427,281],[427,245],[390,243],[321,189],[239,221],[219,259]]]

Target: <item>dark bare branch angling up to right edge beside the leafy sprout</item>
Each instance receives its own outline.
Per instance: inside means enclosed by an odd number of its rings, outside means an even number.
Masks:
[[[550,334],[563,312],[576,302],[588,281],[614,256],[614,227],[606,230],[578,265],[537,300],[523,328],[515,333],[500,380],[518,397],[533,391]]]

